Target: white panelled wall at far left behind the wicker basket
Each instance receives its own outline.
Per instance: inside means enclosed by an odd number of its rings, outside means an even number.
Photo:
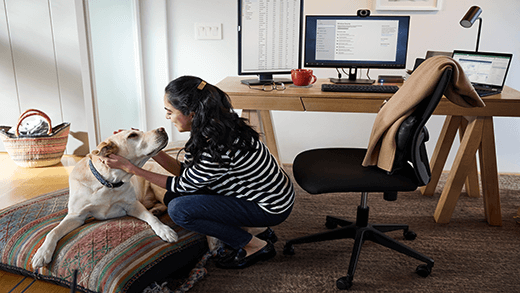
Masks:
[[[74,2],[0,1],[0,125],[14,126],[23,111],[40,109],[53,125],[71,123],[67,152],[84,154],[80,72]]]

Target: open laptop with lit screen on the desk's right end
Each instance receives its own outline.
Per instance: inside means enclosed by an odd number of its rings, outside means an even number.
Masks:
[[[502,92],[513,54],[453,51],[455,59],[481,97]]]

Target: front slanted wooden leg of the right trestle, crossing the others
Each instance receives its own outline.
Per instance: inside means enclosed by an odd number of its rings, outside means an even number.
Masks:
[[[448,223],[455,210],[462,186],[468,176],[468,170],[475,161],[477,149],[481,144],[483,120],[481,117],[471,119],[464,132],[448,180],[433,215],[437,223]]]

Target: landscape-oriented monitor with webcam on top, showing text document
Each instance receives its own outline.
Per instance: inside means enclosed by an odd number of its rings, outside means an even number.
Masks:
[[[410,16],[308,15],[304,67],[348,68],[348,78],[331,81],[373,83],[357,68],[405,68],[409,27]]]

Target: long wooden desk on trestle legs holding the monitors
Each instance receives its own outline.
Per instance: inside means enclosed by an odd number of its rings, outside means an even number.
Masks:
[[[284,91],[264,92],[249,89],[240,83],[243,77],[227,77],[217,84],[231,98],[235,109],[243,109],[257,130],[265,134],[264,141],[279,160],[270,110],[377,113],[384,100],[392,94],[322,92],[318,79],[310,88],[287,86]],[[476,153],[479,151],[485,216],[489,224],[502,225],[498,171],[496,163],[493,116],[520,117],[520,92],[506,87],[502,94],[484,98],[484,108],[463,108],[443,98],[435,115],[446,120],[431,159],[432,180],[421,188],[425,195],[433,195],[439,182],[457,131],[461,143],[450,170],[448,180],[434,213],[435,221],[448,223],[455,209],[462,187],[470,196],[479,196]]]

